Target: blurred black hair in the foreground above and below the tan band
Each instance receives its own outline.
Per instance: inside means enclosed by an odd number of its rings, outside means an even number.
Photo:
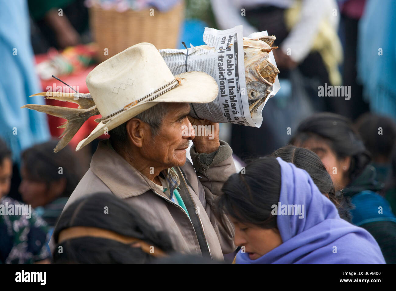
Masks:
[[[59,233],[73,226],[110,230],[143,240],[154,246],[154,252],[156,247],[166,253],[173,252],[168,234],[157,232],[124,200],[112,194],[96,193],[73,202],[63,211],[53,232],[53,238],[57,243],[53,257],[55,263],[131,264],[151,262],[155,259],[139,247],[107,238],[86,236],[59,243]]]

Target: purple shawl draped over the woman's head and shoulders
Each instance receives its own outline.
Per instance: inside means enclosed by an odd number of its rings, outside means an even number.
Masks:
[[[276,159],[282,176],[279,202],[304,205],[304,217],[278,215],[276,224],[283,243],[256,260],[239,251],[237,264],[385,264],[373,236],[341,219],[306,171]]]

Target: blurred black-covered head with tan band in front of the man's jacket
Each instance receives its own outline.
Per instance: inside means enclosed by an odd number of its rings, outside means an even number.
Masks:
[[[109,193],[95,193],[70,204],[54,239],[56,264],[221,263],[176,253],[168,233],[156,231],[133,207]]]

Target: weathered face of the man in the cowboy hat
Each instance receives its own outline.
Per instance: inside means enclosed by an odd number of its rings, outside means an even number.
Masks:
[[[188,128],[190,122],[187,115],[190,113],[188,103],[172,103],[158,135],[143,141],[143,154],[146,159],[164,168],[182,166],[186,162],[186,149],[195,133],[183,134],[183,128]]]

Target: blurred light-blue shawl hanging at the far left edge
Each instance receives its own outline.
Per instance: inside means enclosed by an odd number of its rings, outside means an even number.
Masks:
[[[17,188],[21,151],[50,137],[44,113],[21,110],[26,103],[44,104],[30,97],[40,90],[30,44],[29,13],[25,0],[0,0],[0,137],[12,148],[13,179],[10,194],[20,200]]]

